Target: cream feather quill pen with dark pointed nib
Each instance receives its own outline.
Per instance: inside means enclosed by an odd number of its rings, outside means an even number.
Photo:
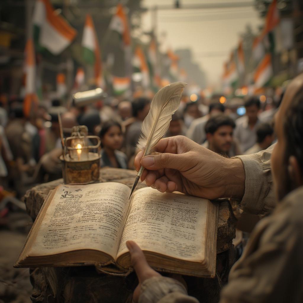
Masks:
[[[186,83],[175,82],[161,88],[153,100],[148,115],[145,117],[141,127],[141,137],[137,146],[144,151],[143,156],[149,155],[158,141],[168,130],[171,116],[180,105],[181,94]],[[129,198],[132,196],[144,167],[141,165],[132,186]]]

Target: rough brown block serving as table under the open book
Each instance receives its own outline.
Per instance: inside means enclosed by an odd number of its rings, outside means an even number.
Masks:
[[[120,182],[132,187],[137,172],[129,169],[101,168],[100,182]],[[48,192],[63,179],[58,179],[28,190],[23,198],[28,214],[33,220],[48,195]],[[137,189],[145,187],[139,183]],[[233,264],[232,239],[235,238],[236,219],[228,200],[219,204],[217,234],[217,275],[216,278],[196,278],[183,276],[188,293],[203,302],[218,302],[219,292],[227,279],[228,271]],[[132,292],[137,285],[136,275],[127,277],[97,273],[93,266],[65,268],[31,269],[33,302],[131,302]],[[118,291],[117,291],[118,290]]]

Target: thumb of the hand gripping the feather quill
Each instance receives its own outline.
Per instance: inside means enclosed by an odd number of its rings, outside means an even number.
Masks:
[[[182,170],[185,163],[184,155],[170,153],[158,153],[145,156],[141,159],[141,165],[148,170],[158,170],[161,168]]]

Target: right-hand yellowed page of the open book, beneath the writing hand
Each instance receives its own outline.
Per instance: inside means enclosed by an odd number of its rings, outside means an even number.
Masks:
[[[133,240],[142,250],[184,260],[204,258],[208,200],[142,188],[134,193],[118,255]]]

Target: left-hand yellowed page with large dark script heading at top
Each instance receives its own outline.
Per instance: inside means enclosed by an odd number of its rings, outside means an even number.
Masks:
[[[130,189],[116,182],[59,185],[29,255],[96,249],[115,257]]]

